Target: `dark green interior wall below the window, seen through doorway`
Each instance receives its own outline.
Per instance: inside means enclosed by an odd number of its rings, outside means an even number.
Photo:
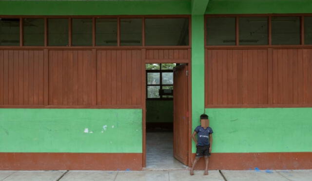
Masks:
[[[146,101],[146,122],[173,122],[173,101]]]

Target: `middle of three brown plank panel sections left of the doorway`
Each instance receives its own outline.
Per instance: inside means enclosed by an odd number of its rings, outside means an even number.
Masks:
[[[96,105],[91,50],[49,51],[49,105]]]

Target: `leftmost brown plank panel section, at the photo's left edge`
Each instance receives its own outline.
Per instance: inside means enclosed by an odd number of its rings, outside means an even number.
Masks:
[[[0,105],[43,105],[43,51],[0,50]]]

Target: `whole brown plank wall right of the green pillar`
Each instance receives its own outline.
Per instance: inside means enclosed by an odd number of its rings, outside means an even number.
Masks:
[[[312,49],[206,50],[206,107],[312,105]]]

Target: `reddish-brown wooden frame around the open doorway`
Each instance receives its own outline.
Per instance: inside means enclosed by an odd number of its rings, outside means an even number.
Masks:
[[[189,49],[190,55],[191,49]],[[142,56],[145,58],[145,50],[142,52]],[[143,59],[143,68],[142,68],[142,167],[146,167],[146,63],[187,63],[187,71],[188,71],[188,158],[187,158],[187,166],[192,166],[192,65],[191,59],[189,56],[189,60],[186,62],[185,60],[171,60],[171,61],[163,61],[163,60],[153,60],[146,61]]]

